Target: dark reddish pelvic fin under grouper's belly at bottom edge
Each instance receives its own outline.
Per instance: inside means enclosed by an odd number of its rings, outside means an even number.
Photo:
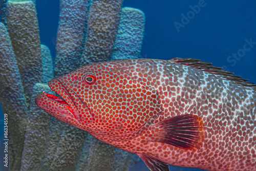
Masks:
[[[151,171],[169,171],[169,165],[151,156],[138,154]]]

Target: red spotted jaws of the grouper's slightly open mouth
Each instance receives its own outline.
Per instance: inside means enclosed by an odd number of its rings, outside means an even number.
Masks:
[[[62,122],[84,131],[90,131],[89,123],[94,118],[88,106],[81,101],[79,96],[69,87],[64,86],[58,78],[49,81],[48,86],[60,97],[45,92],[39,93],[35,98],[35,103],[39,108]]]

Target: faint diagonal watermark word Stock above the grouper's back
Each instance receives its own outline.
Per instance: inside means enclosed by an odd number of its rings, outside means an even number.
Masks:
[[[252,41],[252,38],[249,40],[246,38],[244,39],[245,43],[243,45],[243,48],[239,49],[237,53],[232,53],[230,56],[227,57],[227,62],[231,63],[231,66],[234,67],[239,60],[242,59],[242,57],[245,56],[246,52],[250,51],[254,45],[256,45],[256,41]],[[225,71],[229,71],[227,66],[222,66]]]

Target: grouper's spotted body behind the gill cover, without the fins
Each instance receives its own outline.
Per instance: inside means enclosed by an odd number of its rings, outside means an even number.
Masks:
[[[130,60],[119,64],[110,65],[110,70],[127,66],[129,75],[140,75],[137,81],[144,80],[143,84],[158,90],[164,113],[155,122],[181,114],[196,114],[204,121],[205,140],[196,152],[145,142],[154,130],[147,130],[124,143],[101,140],[175,166],[256,170],[255,91],[216,75],[163,60]]]

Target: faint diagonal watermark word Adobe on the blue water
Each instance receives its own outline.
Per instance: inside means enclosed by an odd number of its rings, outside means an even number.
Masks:
[[[204,8],[205,6],[206,6],[206,3],[204,0],[199,0],[198,5],[194,5],[194,6],[190,5],[189,8],[191,10],[188,11],[186,15],[184,13],[181,14],[182,16],[181,23],[174,22],[174,26],[178,31],[178,33],[180,32],[180,29],[184,28],[190,22],[190,20],[193,19],[196,16],[196,14],[198,14],[201,11],[201,8]]]

